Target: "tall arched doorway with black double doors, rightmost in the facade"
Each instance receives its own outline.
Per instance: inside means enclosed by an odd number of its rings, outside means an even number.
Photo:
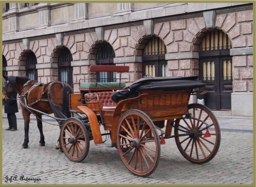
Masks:
[[[232,86],[231,41],[227,34],[206,33],[199,47],[199,75],[206,83],[205,105],[213,110],[230,110]]]

